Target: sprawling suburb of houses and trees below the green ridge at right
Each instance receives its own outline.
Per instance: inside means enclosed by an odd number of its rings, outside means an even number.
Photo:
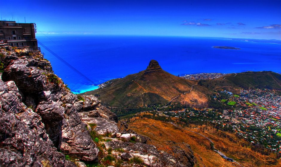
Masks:
[[[239,95],[222,92],[228,95],[227,101],[236,102],[231,109],[222,112],[212,109],[198,111],[184,109],[177,112],[164,112],[164,114],[182,119],[196,118],[201,123],[231,128],[250,143],[264,145],[274,152],[281,150],[280,95],[268,89],[240,90]]]

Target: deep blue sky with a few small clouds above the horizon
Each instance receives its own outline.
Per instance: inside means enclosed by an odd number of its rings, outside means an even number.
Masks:
[[[15,5],[13,5],[15,4]],[[2,19],[38,33],[281,40],[281,0],[0,1]]]

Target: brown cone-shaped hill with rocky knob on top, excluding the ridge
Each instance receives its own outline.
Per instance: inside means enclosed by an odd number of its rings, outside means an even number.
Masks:
[[[196,83],[197,81],[186,80],[164,71],[157,61],[152,60],[146,70],[111,80],[107,86],[84,94],[98,94],[98,98],[109,106],[139,107],[165,104],[176,96],[189,92]],[[193,94],[204,103],[207,102],[207,98],[198,89]],[[187,96],[181,102],[190,103],[190,98],[193,97]]]

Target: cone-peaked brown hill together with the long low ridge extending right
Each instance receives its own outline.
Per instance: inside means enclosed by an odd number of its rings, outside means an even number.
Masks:
[[[82,93],[96,95],[111,107],[145,107],[181,103],[196,108],[207,107],[210,95],[219,88],[237,92],[249,87],[269,88],[281,92],[281,75],[274,72],[242,72],[213,80],[187,80],[164,71],[157,61],[138,73],[106,82],[99,89]],[[122,99],[123,103],[119,103]]]

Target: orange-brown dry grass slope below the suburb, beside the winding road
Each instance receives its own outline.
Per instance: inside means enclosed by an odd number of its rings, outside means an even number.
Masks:
[[[219,136],[218,132],[216,132],[213,128],[207,126],[203,126],[201,128],[203,128],[207,133],[200,133],[210,137],[215,143],[216,148],[221,149],[221,151],[227,156],[236,158],[243,166],[271,166],[265,160],[273,159],[273,154],[270,156],[264,156],[252,151],[250,148],[240,146],[241,143],[238,142],[239,139],[237,139],[234,134],[227,133],[233,139],[233,142],[230,141],[229,138]],[[226,161],[219,156],[219,154],[212,151],[210,149],[210,142],[204,137],[187,130],[179,129],[169,123],[152,119],[134,118],[134,120],[131,120],[131,123],[129,124],[129,129],[150,137],[151,141],[148,141],[148,144],[153,144],[159,150],[164,150],[168,153],[172,153],[172,146],[174,145],[182,146],[182,142],[189,144],[197,159],[197,166],[237,166],[235,163]],[[199,132],[199,129],[194,129],[194,131]],[[243,140],[242,142],[245,141]],[[281,163],[279,162],[279,164]]]

